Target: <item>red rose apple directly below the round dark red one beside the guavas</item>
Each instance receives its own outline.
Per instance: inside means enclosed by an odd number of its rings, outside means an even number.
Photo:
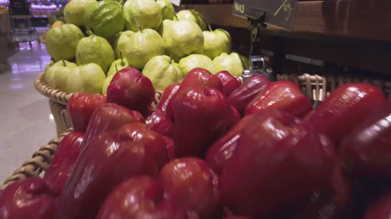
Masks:
[[[100,106],[91,116],[82,148],[93,136],[102,132],[117,130],[122,125],[134,122],[145,122],[143,115],[138,111],[132,111],[115,103]]]

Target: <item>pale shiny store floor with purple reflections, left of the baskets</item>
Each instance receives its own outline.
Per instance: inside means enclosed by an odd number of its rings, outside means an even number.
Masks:
[[[20,44],[0,73],[0,183],[31,158],[41,145],[56,137],[47,97],[35,90],[35,77],[50,62],[45,45]]]

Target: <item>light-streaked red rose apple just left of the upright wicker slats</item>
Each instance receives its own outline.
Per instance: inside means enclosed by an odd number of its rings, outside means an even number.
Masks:
[[[244,115],[261,113],[265,109],[286,111],[296,117],[304,117],[312,109],[312,103],[298,85],[291,81],[276,81],[250,101]]]

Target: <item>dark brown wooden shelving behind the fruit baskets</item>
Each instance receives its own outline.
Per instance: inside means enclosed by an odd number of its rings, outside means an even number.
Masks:
[[[228,29],[232,41],[239,42],[236,49],[248,53],[247,20],[233,16],[232,7],[232,4],[193,4],[182,5],[180,9],[195,9],[204,15],[206,22]],[[326,73],[325,69],[331,69],[344,74],[347,66],[349,71],[363,76],[390,73],[389,8],[388,0],[299,0],[293,30],[267,26],[262,31],[262,49],[273,52],[274,65],[282,66],[276,67],[277,71],[292,71],[289,66],[292,60],[285,59],[285,55],[297,55],[323,61],[319,68],[305,64],[294,68],[300,71],[309,68],[308,71]]]

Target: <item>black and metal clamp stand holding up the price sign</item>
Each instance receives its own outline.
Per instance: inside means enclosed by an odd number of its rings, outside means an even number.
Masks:
[[[249,24],[247,29],[251,30],[251,48],[249,69],[243,71],[243,80],[254,74],[263,74],[271,81],[276,81],[274,72],[266,68],[260,47],[260,30],[267,26],[265,24],[266,10],[251,8],[246,17]]]

